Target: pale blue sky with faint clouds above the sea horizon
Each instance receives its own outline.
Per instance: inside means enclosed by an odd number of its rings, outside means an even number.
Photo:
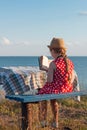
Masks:
[[[53,37],[87,56],[87,0],[0,0],[0,56],[50,55]]]

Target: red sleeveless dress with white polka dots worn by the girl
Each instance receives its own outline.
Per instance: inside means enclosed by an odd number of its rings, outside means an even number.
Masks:
[[[69,70],[66,71],[66,62],[63,57],[57,58],[53,62],[56,65],[56,70],[54,71],[53,81],[51,83],[46,82],[46,84],[41,88],[38,94],[58,94],[72,92],[73,86],[69,83],[69,75],[72,73],[74,65],[70,59],[68,60]]]

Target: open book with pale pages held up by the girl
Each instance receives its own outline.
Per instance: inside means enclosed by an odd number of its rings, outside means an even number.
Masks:
[[[46,56],[40,56],[38,60],[40,70],[48,71],[49,64],[52,62],[52,60],[48,59]]]

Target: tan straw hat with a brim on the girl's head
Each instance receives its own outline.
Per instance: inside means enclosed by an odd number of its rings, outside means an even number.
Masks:
[[[50,45],[47,46],[49,49],[52,48],[63,48],[66,50],[64,40],[62,38],[53,38]]]

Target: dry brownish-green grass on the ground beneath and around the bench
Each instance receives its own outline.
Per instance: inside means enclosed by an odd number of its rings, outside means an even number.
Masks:
[[[87,130],[87,97],[81,97],[81,102],[73,99],[58,100],[59,103],[59,130],[69,127],[72,130]],[[54,130],[50,123],[52,112],[48,102],[47,120],[49,126],[41,128],[38,120],[38,104],[32,105],[33,130]],[[3,100],[0,102],[0,130],[21,130],[21,104]]]

